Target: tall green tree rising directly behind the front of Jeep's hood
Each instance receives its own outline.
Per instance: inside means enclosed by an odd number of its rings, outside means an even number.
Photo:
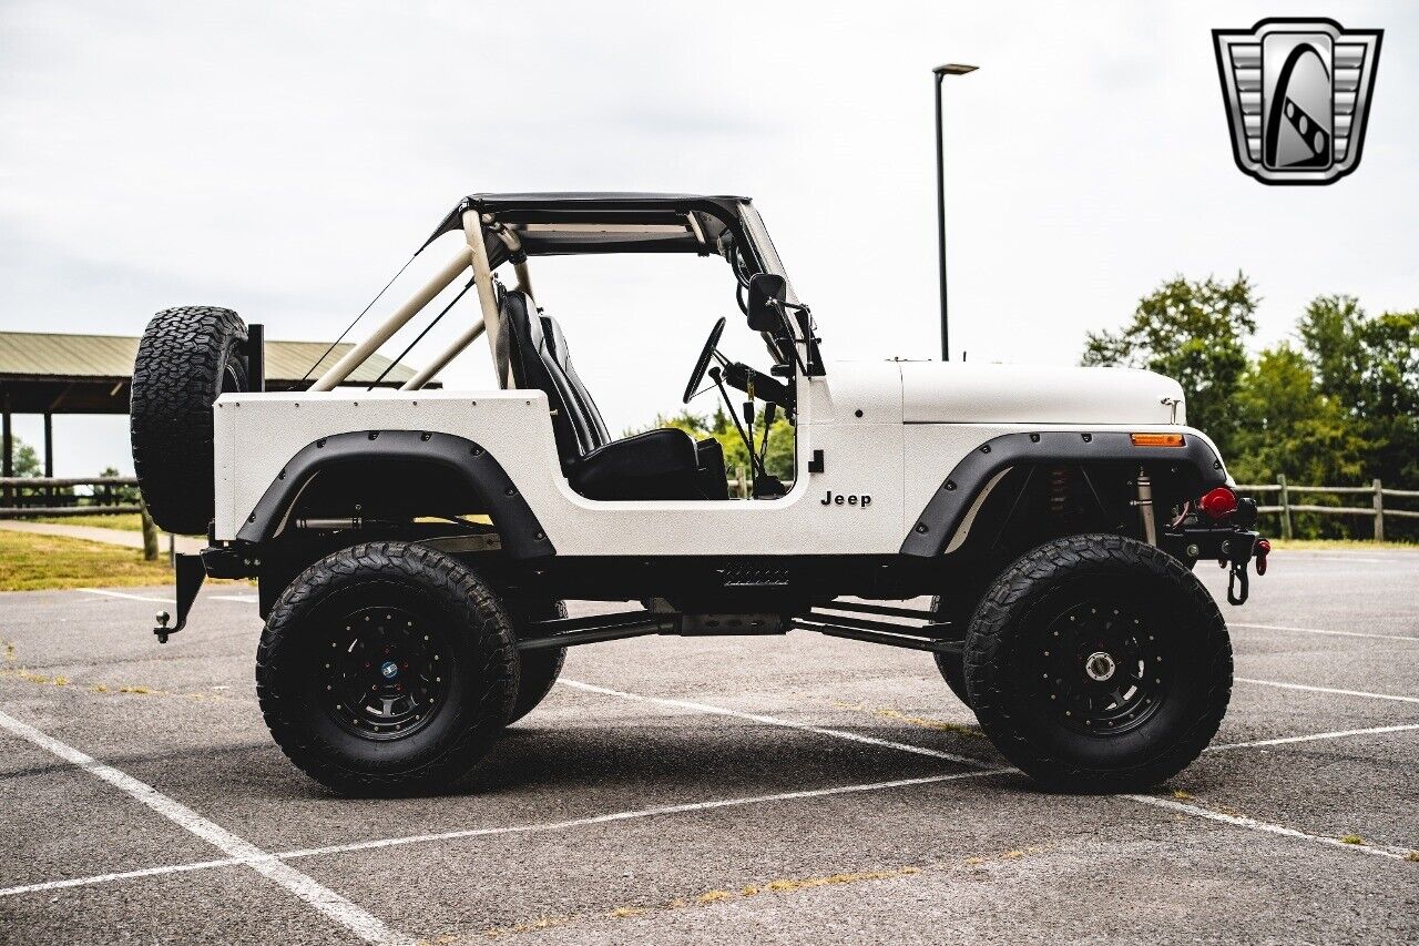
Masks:
[[[1256,304],[1256,288],[1242,273],[1230,283],[1176,276],[1138,300],[1120,331],[1088,332],[1081,364],[1147,368],[1176,379],[1188,396],[1188,423],[1227,452]]]

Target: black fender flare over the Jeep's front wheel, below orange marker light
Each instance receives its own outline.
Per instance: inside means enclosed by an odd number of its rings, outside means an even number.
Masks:
[[[1222,459],[1196,433],[1183,433],[1181,447],[1135,446],[1120,430],[1005,433],[968,453],[921,510],[901,543],[901,554],[918,558],[941,555],[976,496],[992,479],[1012,466],[1040,463],[1168,463],[1195,470],[1203,490],[1227,482]]]

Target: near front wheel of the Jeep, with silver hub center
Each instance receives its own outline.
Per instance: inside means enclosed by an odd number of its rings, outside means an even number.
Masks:
[[[1212,595],[1172,555],[1118,535],[1025,554],[966,634],[966,685],[1000,753],[1046,787],[1135,791],[1218,732],[1232,643]]]

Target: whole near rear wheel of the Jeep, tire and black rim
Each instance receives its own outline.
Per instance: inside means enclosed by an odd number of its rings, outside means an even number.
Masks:
[[[492,746],[518,692],[512,619],[458,560],[369,543],[277,599],[257,696],[281,750],[343,794],[436,791]]]

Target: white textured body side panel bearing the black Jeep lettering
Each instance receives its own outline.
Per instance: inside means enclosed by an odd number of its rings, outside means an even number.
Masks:
[[[412,430],[463,437],[497,457],[558,557],[895,555],[908,516],[900,374],[891,362],[853,368],[799,379],[799,474],[789,494],[773,500],[579,496],[562,474],[548,401],[538,391],[223,395],[214,409],[216,537],[237,538],[282,469],[315,440]],[[824,455],[824,472],[809,474],[815,450]],[[417,479],[407,489],[417,493]]]

